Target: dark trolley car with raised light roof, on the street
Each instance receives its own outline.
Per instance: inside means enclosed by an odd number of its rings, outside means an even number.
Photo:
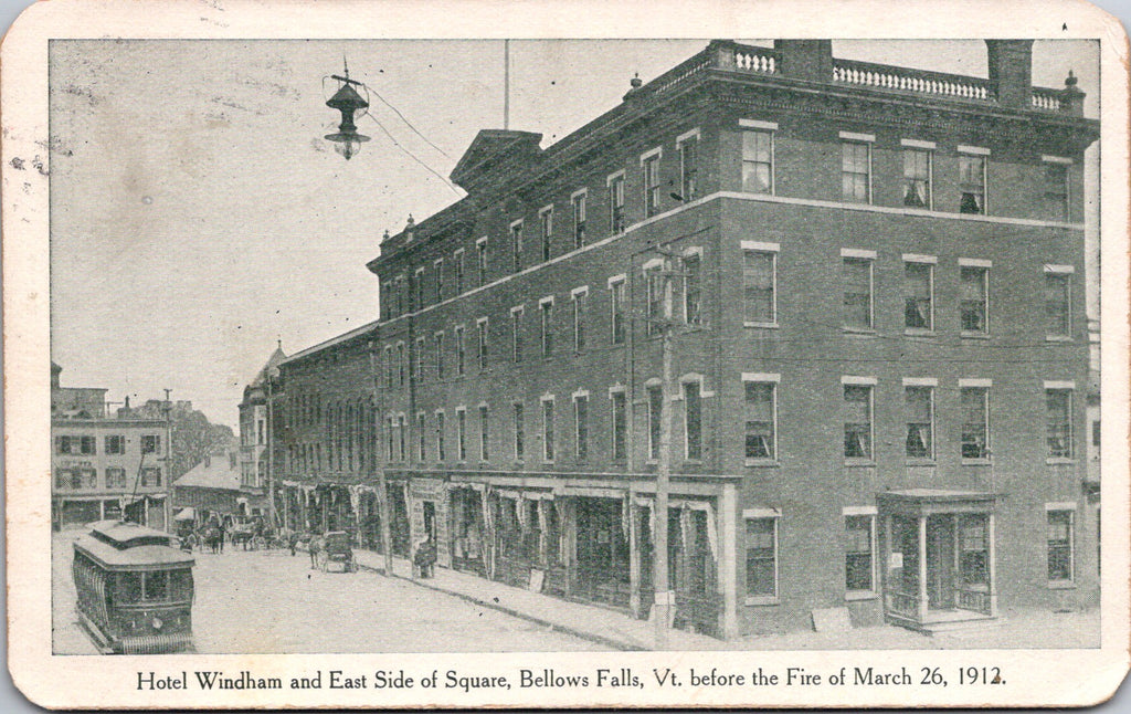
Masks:
[[[192,566],[171,537],[102,521],[75,541],[77,610],[104,654],[175,652],[192,643]]]

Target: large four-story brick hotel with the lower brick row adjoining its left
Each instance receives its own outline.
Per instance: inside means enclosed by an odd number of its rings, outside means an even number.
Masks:
[[[1095,597],[1098,123],[986,45],[988,79],[711,42],[546,148],[480,132],[369,264],[380,319],[283,362],[282,517],[377,545],[383,470],[395,552],[646,617],[672,329],[677,626]]]

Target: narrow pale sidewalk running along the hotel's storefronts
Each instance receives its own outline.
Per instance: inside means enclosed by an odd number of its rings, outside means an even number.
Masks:
[[[379,553],[357,549],[354,551],[354,558],[363,568],[385,571],[385,557]],[[394,558],[392,574],[409,579],[412,567],[408,560]],[[597,605],[585,605],[532,593],[449,568],[438,567],[434,577],[416,578],[413,582],[421,587],[448,593],[606,647],[636,651],[651,650],[655,645],[655,628],[650,622],[636,620],[628,614]],[[670,650],[681,651],[719,650],[725,647],[725,643],[705,635],[668,630],[667,646]]]

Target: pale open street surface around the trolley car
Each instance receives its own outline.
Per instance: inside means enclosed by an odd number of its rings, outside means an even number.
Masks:
[[[94,647],[75,621],[70,543],[55,534],[53,637],[59,654]],[[459,597],[372,571],[310,569],[300,552],[197,553],[193,630],[200,653],[535,652],[603,647]]]

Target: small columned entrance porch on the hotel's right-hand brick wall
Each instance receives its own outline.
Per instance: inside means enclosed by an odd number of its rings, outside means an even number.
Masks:
[[[934,489],[879,494],[889,622],[934,633],[998,617],[994,498]]]

